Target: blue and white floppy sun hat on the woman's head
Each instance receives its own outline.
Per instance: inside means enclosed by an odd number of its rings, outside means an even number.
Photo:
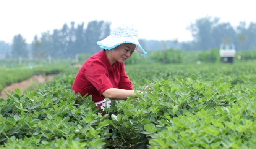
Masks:
[[[141,47],[138,41],[138,29],[136,25],[122,24],[113,29],[107,38],[100,40],[97,44],[100,48],[111,50],[123,43],[132,43],[136,45],[135,50],[141,55],[147,55],[147,52]]]

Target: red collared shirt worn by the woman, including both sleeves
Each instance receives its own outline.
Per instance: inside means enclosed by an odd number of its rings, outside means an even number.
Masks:
[[[125,73],[124,63],[115,62],[111,66],[104,50],[87,59],[76,74],[72,85],[75,93],[92,95],[94,102],[105,99],[102,95],[107,89],[118,88],[133,90],[130,79]]]

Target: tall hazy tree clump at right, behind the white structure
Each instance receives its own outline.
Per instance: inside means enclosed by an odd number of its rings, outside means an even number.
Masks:
[[[241,21],[237,27],[229,22],[220,22],[220,18],[206,16],[197,19],[188,27],[193,40],[183,44],[186,50],[207,50],[219,48],[220,44],[234,44],[235,49],[256,49],[256,23]]]

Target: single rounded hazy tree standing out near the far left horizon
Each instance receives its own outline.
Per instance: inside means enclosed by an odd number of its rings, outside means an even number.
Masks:
[[[28,57],[26,39],[24,39],[20,34],[13,37],[13,44],[11,45],[11,54],[15,58],[19,56]]]

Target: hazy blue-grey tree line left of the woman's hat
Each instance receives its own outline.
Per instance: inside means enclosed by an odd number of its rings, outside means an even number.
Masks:
[[[34,36],[31,44],[26,43],[22,35],[13,37],[13,44],[7,57],[51,57],[68,58],[75,57],[76,54],[94,54],[101,49],[96,44],[110,35],[110,22],[91,21],[84,27],[84,23],[75,27],[75,22],[70,26],[64,24],[62,29],[54,29],[43,32],[39,38]]]

